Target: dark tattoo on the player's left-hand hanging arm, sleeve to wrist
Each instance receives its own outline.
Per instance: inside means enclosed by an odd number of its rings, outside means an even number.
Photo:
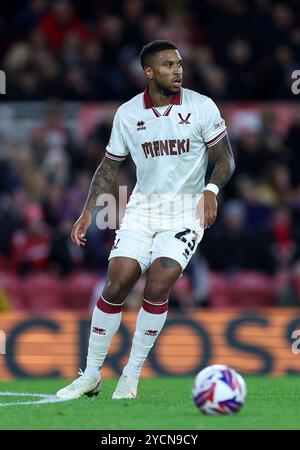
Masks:
[[[99,195],[108,192],[111,188],[121,164],[122,161],[114,161],[106,156],[103,158],[92,178],[84,209],[93,211]]]

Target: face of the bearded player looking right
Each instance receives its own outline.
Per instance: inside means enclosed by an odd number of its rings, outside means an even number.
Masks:
[[[148,67],[146,76],[166,96],[175,95],[182,84],[182,59],[178,50],[163,50],[157,53]]]

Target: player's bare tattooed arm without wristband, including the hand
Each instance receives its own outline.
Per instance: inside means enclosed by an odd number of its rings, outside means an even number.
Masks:
[[[97,167],[89,188],[89,193],[82,213],[75,222],[71,232],[74,244],[85,245],[85,234],[92,221],[92,212],[96,206],[99,195],[111,188],[122,161],[116,161],[105,156]]]

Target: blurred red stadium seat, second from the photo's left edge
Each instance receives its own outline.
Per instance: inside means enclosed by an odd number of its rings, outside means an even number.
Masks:
[[[28,275],[22,282],[22,288],[33,312],[61,310],[64,305],[64,289],[59,276],[46,272]]]

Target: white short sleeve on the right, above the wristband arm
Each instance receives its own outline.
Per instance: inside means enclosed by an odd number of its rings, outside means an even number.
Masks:
[[[227,128],[217,105],[210,98],[203,108],[202,137],[207,147],[212,147],[227,134]]]

